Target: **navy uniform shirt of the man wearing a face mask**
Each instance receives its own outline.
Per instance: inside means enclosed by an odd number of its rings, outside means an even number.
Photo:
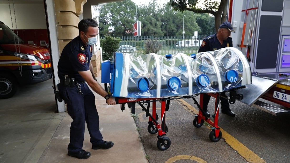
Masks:
[[[64,81],[64,75],[74,77],[76,81],[84,82],[78,71],[87,71],[92,57],[92,46],[85,45],[79,36],[70,41],[62,50],[58,61],[58,77]]]

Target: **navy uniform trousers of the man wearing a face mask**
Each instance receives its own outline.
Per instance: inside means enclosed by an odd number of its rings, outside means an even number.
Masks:
[[[80,83],[83,95],[79,94],[78,87],[59,84],[59,92],[67,104],[68,115],[73,119],[70,126],[70,144],[68,151],[78,152],[83,147],[85,123],[90,134],[90,142],[98,144],[103,137],[99,131],[99,115],[95,104],[95,95],[86,83]]]

